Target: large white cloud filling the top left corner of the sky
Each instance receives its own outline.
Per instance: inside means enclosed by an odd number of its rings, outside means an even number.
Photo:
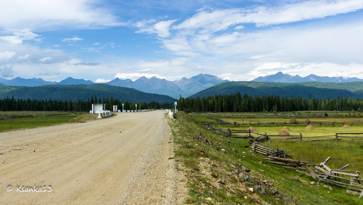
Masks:
[[[0,28],[102,28],[119,23],[112,12],[92,0],[0,1]],[[21,6],[20,6],[21,5]]]

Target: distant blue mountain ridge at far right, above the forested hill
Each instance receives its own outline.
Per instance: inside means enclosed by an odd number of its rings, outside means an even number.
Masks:
[[[273,82],[273,83],[303,83],[303,82],[321,82],[321,83],[349,83],[356,81],[363,81],[363,79],[359,79],[356,77],[328,77],[328,76],[317,76],[310,74],[306,77],[300,77],[298,75],[291,76],[289,74],[284,74],[282,72],[278,72],[274,75],[258,77],[253,79],[252,81],[257,82]]]

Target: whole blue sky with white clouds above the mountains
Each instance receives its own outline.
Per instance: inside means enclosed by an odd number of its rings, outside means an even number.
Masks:
[[[0,77],[363,78],[363,0],[0,1]]]

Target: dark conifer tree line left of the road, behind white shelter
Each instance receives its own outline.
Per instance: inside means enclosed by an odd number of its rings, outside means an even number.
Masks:
[[[117,109],[134,110],[135,102],[129,102],[119,99],[113,99],[103,97],[98,98],[97,96],[88,97],[87,101],[72,101],[72,100],[35,100],[35,99],[14,99],[12,96],[9,98],[0,99],[0,110],[1,111],[64,111],[64,112],[88,112],[92,109],[92,103],[103,102],[106,103],[106,110],[113,110],[113,105],[117,105]],[[137,109],[160,109],[160,108],[171,108],[172,103],[158,103],[158,102],[140,102],[137,103]]]

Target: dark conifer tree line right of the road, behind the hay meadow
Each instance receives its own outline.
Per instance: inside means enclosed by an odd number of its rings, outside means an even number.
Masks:
[[[279,97],[278,95],[257,96],[240,92],[209,97],[183,98],[178,109],[187,112],[293,112],[307,110],[361,111],[363,101],[338,97],[337,99],[316,99],[303,97]]]

